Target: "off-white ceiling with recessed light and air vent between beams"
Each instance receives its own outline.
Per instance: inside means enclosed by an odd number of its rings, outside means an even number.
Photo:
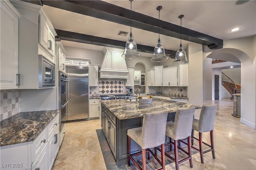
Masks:
[[[105,0],[108,3],[130,9],[128,0]],[[201,32],[222,40],[253,36],[256,34],[256,1],[251,0],[236,5],[234,0],[134,0],[132,10],[158,18],[157,6],[162,6],[160,20],[180,25],[178,16],[184,14],[182,27]],[[77,32],[102,38],[109,38],[126,42],[128,36],[118,36],[118,32],[130,32],[130,27],[66,10],[43,6],[55,29]],[[239,27],[237,32],[231,32]],[[158,34],[132,28],[134,41],[138,44],[154,47]],[[160,35],[162,45],[166,49],[176,51],[180,40]],[[85,43],[61,41],[64,46],[79,47],[102,51],[103,47]],[[188,41],[182,40],[186,49]],[[124,43],[125,45],[125,43]],[[152,51],[153,53],[153,51]],[[142,55],[143,54],[143,55]],[[151,57],[152,54],[142,53],[142,56]]]

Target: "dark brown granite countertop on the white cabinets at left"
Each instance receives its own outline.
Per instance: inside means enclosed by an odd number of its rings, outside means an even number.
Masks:
[[[0,122],[0,146],[31,142],[60,110],[18,113]]]

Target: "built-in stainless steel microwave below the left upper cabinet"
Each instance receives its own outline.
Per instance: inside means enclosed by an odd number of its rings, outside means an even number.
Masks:
[[[38,87],[55,86],[55,64],[38,55]]]

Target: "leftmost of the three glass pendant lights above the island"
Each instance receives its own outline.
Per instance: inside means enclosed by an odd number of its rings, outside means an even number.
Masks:
[[[137,49],[137,44],[134,42],[134,38],[132,36],[132,1],[131,2],[131,32],[130,32],[130,37],[128,38],[128,41],[125,44],[125,49],[122,54],[123,58],[128,58],[128,59],[134,59],[140,57],[140,54],[138,53]]]

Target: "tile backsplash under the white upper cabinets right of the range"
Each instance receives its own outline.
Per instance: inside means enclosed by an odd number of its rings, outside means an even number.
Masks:
[[[156,94],[158,91],[163,95],[188,96],[188,87],[148,86],[148,94]]]

